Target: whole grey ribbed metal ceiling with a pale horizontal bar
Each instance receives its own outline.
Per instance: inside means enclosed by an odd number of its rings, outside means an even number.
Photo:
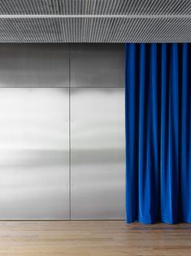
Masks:
[[[191,42],[191,0],[2,0],[0,42]]]

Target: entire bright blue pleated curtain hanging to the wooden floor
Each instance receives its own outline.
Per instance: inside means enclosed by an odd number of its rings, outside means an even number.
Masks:
[[[191,223],[191,45],[126,44],[126,218]]]

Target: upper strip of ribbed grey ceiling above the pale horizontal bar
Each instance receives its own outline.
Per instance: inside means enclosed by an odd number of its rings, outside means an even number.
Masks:
[[[190,0],[1,0],[2,15],[190,15]]]

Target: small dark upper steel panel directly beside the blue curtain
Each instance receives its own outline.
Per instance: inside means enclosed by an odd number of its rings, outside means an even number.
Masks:
[[[124,87],[124,45],[72,44],[72,87]]]

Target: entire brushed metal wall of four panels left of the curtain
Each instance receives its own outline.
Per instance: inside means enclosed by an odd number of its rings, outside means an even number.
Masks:
[[[0,219],[124,218],[124,46],[0,55]]]

